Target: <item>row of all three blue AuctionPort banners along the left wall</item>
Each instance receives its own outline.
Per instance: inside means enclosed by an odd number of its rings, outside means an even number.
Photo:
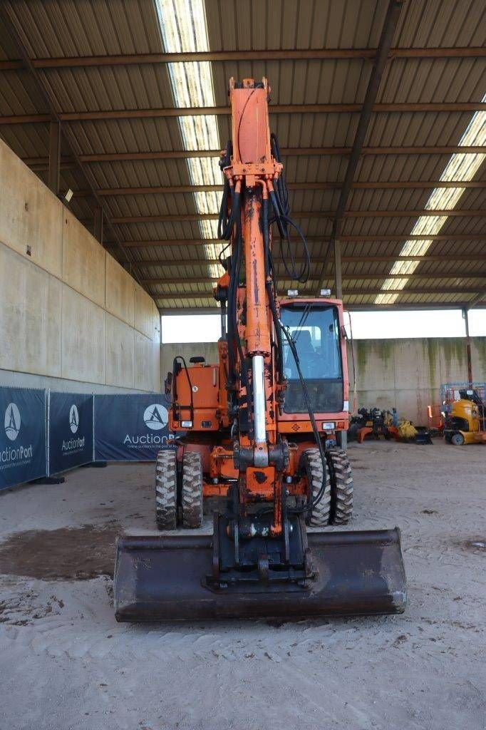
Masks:
[[[153,461],[159,450],[175,446],[162,393],[2,387],[2,417],[0,489],[92,461]]]

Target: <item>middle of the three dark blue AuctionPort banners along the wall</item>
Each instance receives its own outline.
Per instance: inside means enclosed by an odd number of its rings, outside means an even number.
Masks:
[[[50,393],[49,474],[93,461],[93,396]]]

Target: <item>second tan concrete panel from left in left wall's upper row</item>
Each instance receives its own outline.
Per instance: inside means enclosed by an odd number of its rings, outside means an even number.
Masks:
[[[104,248],[69,210],[64,210],[63,279],[104,307]]]

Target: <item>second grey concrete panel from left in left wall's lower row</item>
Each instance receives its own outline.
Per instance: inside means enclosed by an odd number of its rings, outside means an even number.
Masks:
[[[62,376],[105,383],[104,310],[63,285]]]

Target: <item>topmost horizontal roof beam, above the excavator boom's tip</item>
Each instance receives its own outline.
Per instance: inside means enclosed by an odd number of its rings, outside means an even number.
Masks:
[[[88,55],[63,58],[36,58],[36,69],[83,68],[86,66],[141,66],[188,61],[339,61],[374,58],[375,48],[310,48],[287,50],[220,50],[193,53],[137,53],[127,55]],[[390,58],[483,58],[485,47],[392,48]],[[0,61],[0,71],[23,68],[23,61]]]

